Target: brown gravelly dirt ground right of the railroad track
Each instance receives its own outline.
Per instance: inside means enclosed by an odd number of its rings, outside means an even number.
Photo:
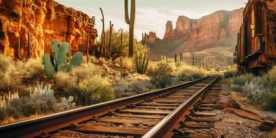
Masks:
[[[224,108],[224,110],[217,110],[218,118],[221,121],[215,123],[215,128],[212,128],[213,135],[215,137],[242,137],[242,138],[275,138],[276,130],[272,132],[264,132],[259,130],[259,126],[262,124],[262,119],[265,119],[267,112],[262,112],[246,102],[246,99],[239,96],[236,92],[230,89],[228,84],[221,84],[221,102],[228,102],[229,99],[235,100],[242,109],[246,109],[250,112],[254,112],[260,116],[260,121],[255,121],[252,119],[246,119],[244,117],[239,117],[233,112],[229,112]],[[271,113],[271,112],[270,112]],[[272,113],[273,115],[276,114]]]

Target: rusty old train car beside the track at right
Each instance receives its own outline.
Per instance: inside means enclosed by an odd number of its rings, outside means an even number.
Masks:
[[[261,74],[276,65],[276,0],[249,0],[237,34],[235,63],[241,73]]]

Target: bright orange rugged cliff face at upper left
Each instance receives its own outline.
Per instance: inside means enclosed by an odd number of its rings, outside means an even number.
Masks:
[[[0,0],[0,48],[3,54],[42,57],[51,52],[53,39],[67,41],[72,53],[79,50],[79,43],[86,46],[89,34],[90,48],[94,46],[97,30],[95,18],[53,0]],[[19,45],[20,38],[20,49]]]

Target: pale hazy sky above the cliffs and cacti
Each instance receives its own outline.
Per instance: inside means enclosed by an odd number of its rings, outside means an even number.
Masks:
[[[114,28],[128,30],[124,20],[124,0],[55,0],[64,6],[85,12],[96,17],[96,28],[101,32],[101,12],[105,15],[105,26],[112,21]],[[156,32],[163,38],[166,21],[172,21],[175,28],[177,17],[184,15],[199,19],[217,10],[235,10],[244,8],[248,0],[136,0],[135,37],[141,39],[142,32]],[[130,4],[130,0],[129,0]],[[130,6],[129,6],[130,7]],[[99,35],[100,36],[100,35]]]

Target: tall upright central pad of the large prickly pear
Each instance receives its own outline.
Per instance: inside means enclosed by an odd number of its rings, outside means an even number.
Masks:
[[[61,43],[59,46],[59,56],[56,63],[56,70],[57,71],[67,71],[67,62],[68,62],[68,50],[69,50],[68,43]]]

